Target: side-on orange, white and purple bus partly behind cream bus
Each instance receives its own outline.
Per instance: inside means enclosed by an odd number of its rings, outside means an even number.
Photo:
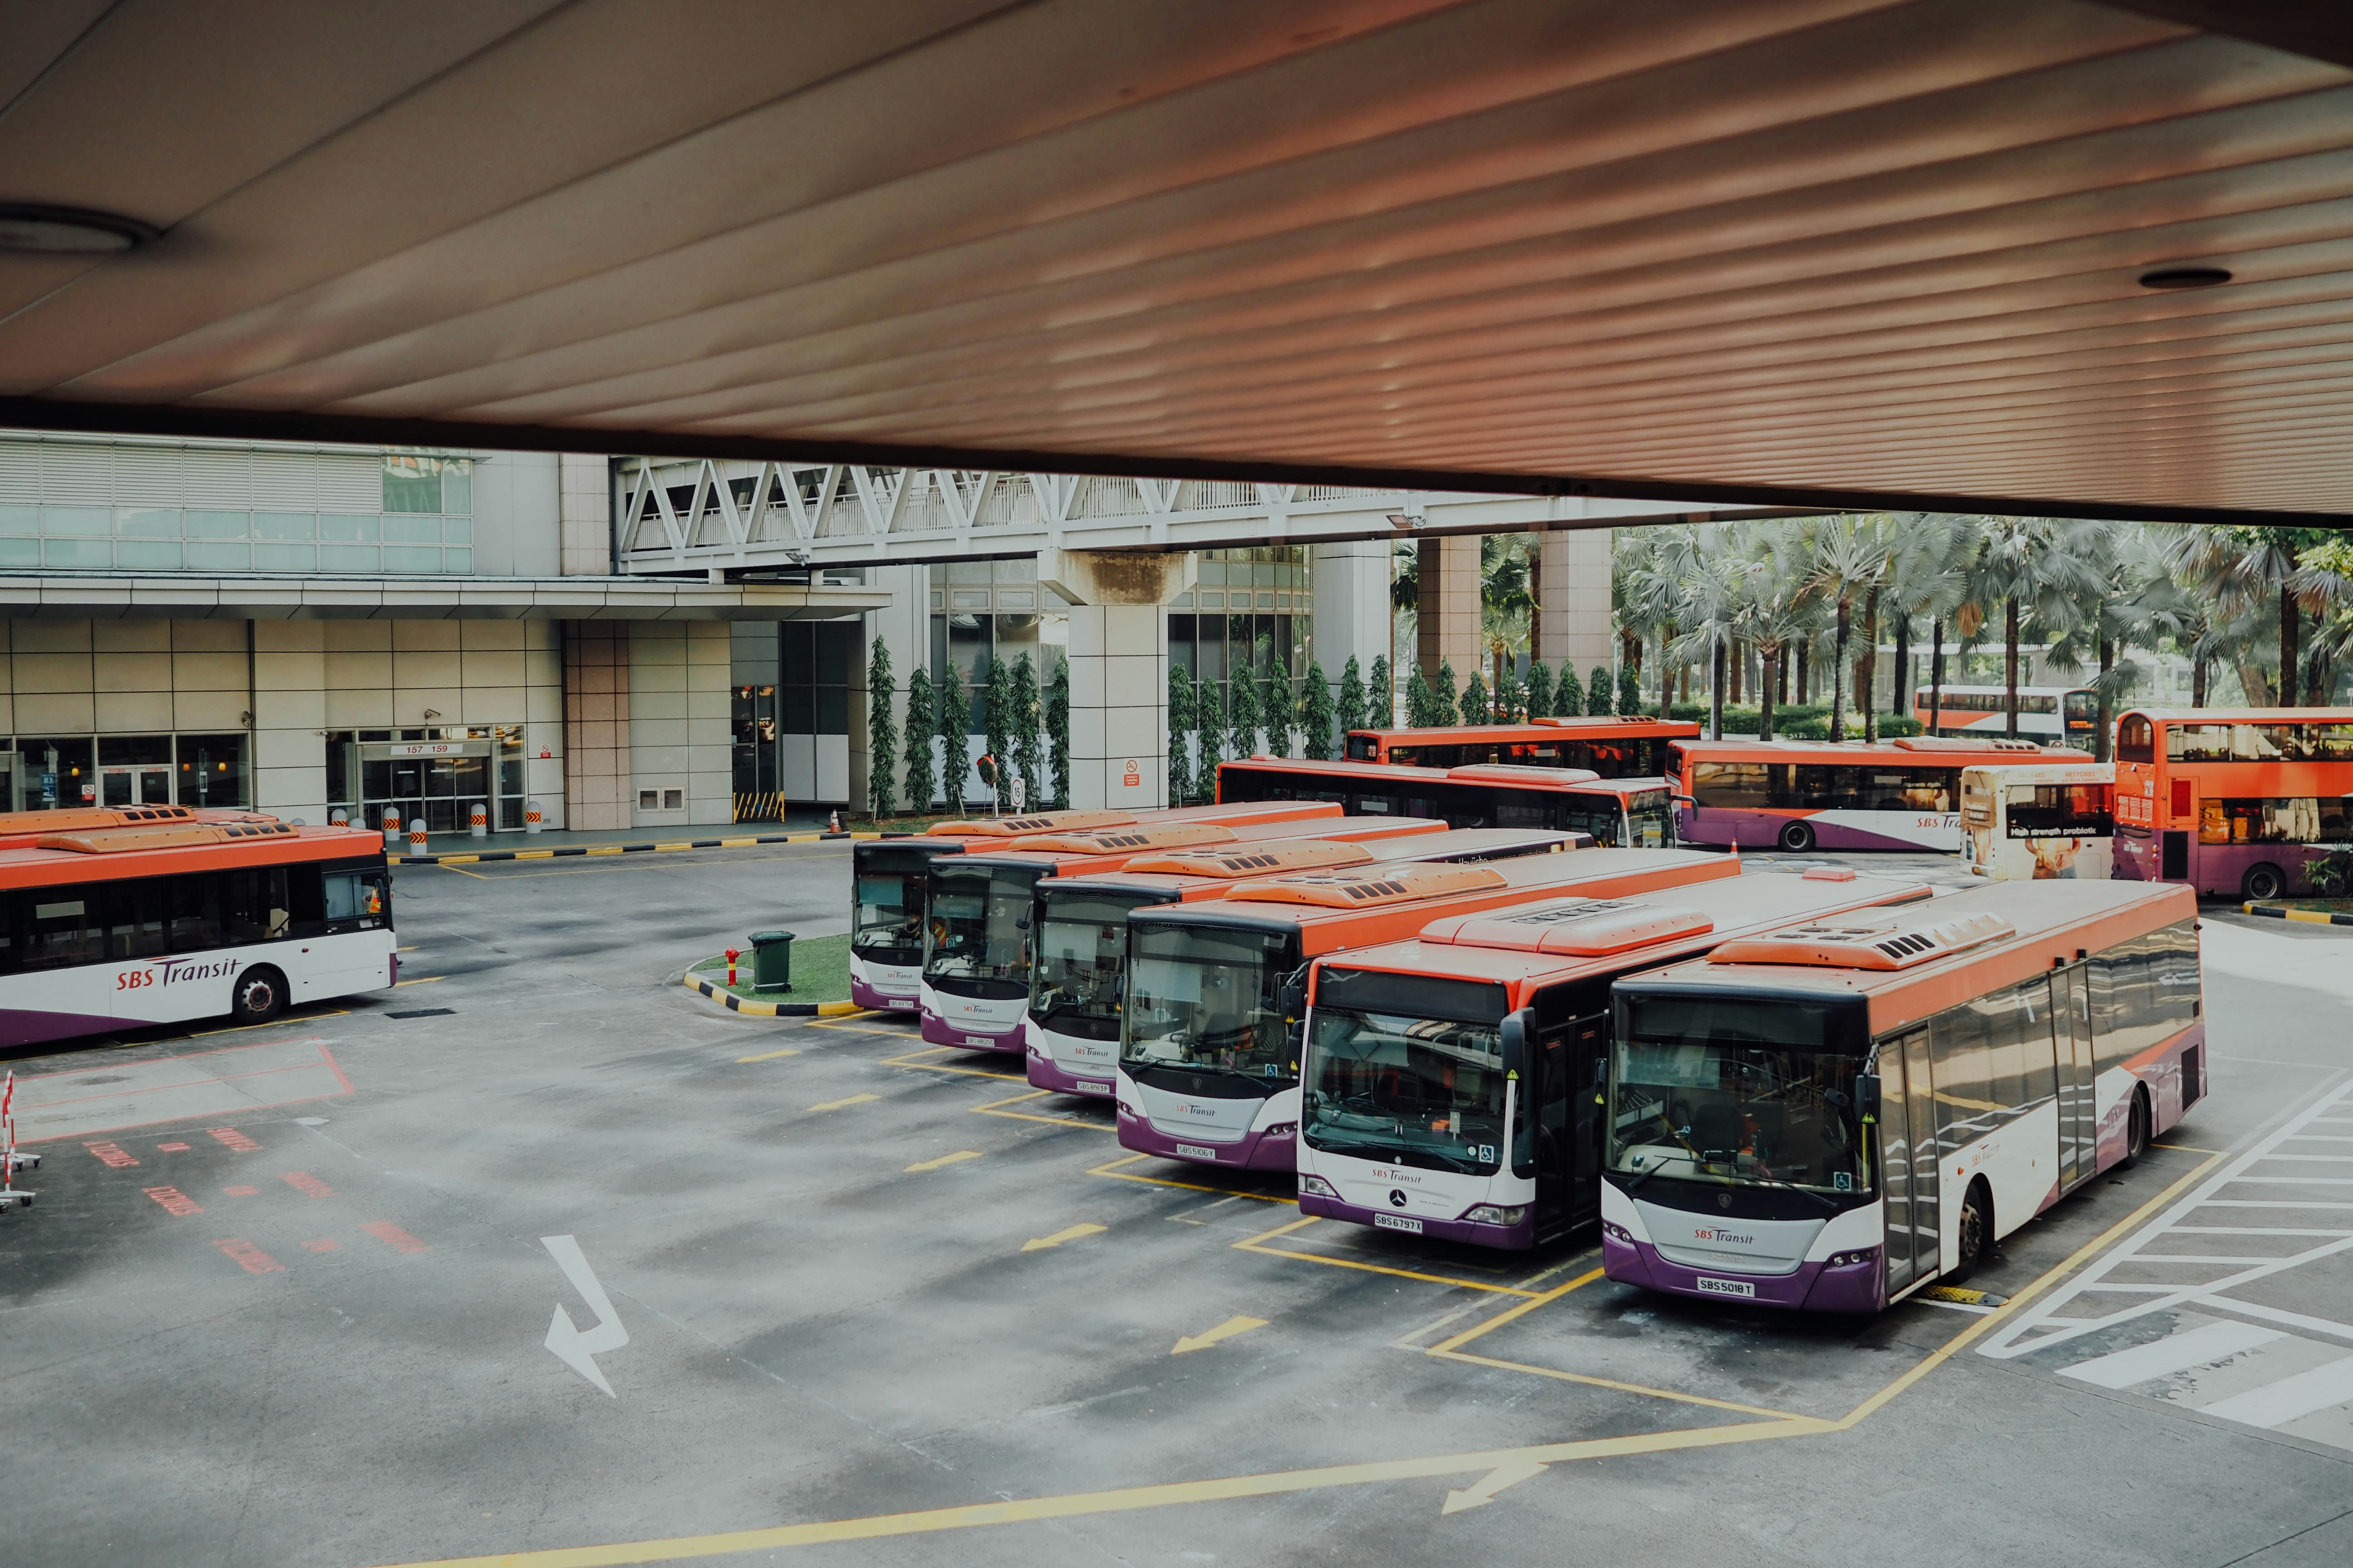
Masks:
[[[2033,741],[1678,741],[1675,837],[1748,849],[1960,849],[1960,769],[2087,762]]]

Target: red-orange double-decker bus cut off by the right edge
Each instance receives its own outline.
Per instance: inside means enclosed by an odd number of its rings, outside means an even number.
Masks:
[[[2115,724],[2115,875],[2280,898],[2353,849],[2353,708],[2134,708]]]

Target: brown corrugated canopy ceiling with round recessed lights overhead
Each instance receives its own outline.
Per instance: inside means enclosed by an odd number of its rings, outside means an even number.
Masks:
[[[0,0],[0,421],[2353,512],[2348,14]]]

